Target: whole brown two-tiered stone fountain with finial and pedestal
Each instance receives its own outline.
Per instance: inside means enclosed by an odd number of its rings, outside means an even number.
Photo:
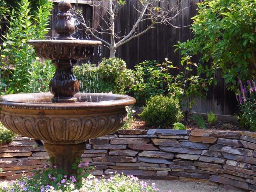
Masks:
[[[93,47],[101,42],[71,37],[75,28],[70,8],[67,2],[59,3],[59,37],[28,42],[40,58],[51,59],[56,67],[49,85],[53,97],[48,92],[1,96],[0,119],[14,133],[43,140],[52,165],[74,174],[71,165],[85,150],[85,140],[119,129],[127,119],[125,106],[136,101],[130,96],[78,93],[79,84],[72,68],[78,59],[91,56]]]

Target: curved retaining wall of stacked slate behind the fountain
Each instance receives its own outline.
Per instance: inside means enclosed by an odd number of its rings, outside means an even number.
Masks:
[[[40,142],[17,137],[0,146],[0,178],[41,170],[48,155]],[[37,146],[37,147],[36,147]],[[90,139],[82,162],[94,175],[117,172],[143,179],[200,181],[256,192],[256,133],[220,130],[119,130]]]

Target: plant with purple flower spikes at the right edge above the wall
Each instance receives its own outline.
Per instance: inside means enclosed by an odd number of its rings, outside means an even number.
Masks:
[[[238,121],[241,126],[256,131],[256,81],[247,81],[248,89],[239,81],[237,101],[240,103]]]

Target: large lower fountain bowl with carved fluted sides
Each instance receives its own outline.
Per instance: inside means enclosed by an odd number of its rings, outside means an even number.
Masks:
[[[119,129],[127,120],[130,96],[78,93],[77,103],[51,103],[51,93],[23,93],[0,97],[5,127],[49,144],[77,144]]]

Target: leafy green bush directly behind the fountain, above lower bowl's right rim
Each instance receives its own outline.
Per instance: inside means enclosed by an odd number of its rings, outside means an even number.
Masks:
[[[113,92],[125,94],[133,84],[132,70],[126,68],[122,59],[103,59],[99,66],[82,64],[74,68],[80,82],[80,92]]]

